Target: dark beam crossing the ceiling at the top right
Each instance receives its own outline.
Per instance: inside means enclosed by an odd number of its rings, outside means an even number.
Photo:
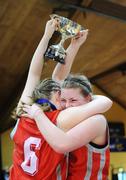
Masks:
[[[120,20],[126,20],[126,7],[120,4],[116,4],[107,0],[92,0],[89,3],[89,6],[82,6],[80,4],[73,4],[66,2],[64,0],[52,0],[57,2],[57,4],[61,4],[70,9],[79,10],[81,12],[95,12],[101,15],[107,15],[112,18],[117,18]]]

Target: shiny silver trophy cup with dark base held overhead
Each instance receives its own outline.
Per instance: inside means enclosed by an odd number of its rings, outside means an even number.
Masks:
[[[45,53],[45,57],[58,61],[61,64],[65,64],[64,59],[66,51],[63,47],[64,41],[68,38],[76,36],[80,31],[83,31],[84,28],[80,24],[57,14],[52,14],[50,17],[57,18],[59,20],[59,28],[57,31],[61,34],[61,41],[59,44],[49,46]]]

